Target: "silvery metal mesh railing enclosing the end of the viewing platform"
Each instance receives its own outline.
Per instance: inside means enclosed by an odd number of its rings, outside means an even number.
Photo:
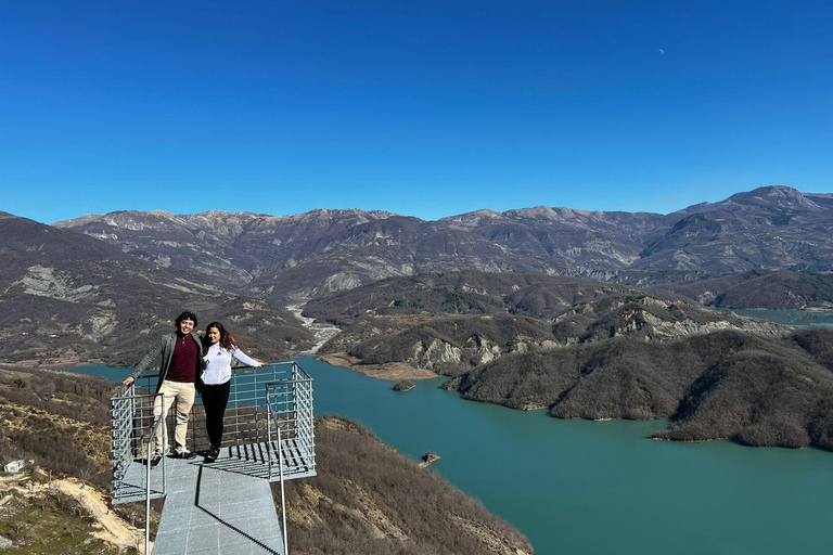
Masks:
[[[114,504],[165,495],[164,466],[161,480],[139,472],[149,462],[142,461],[142,448],[155,425],[153,391],[157,379],[157,374],[142,376],[120,386],[111,398]],[[175,421],[162,423],[165,442],[172,436]],[[295,361],[235,369],[223,423],[223,449],[231,448],[230,459],[240,459],[225,469],[270,481],[280,479],[275,465],[283,479],[316,475],[312,378]],[[193,452],[210,447],[202,399],[191,411],[187,441]]]

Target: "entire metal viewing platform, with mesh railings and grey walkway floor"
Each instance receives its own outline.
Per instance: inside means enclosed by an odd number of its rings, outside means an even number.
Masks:
[[[316,475],[312,378],[295,362],[236,370],[217,461],[166,456],[149,468],[153,436],[172,437],[172,422],[153,418],[155,379],[142,377],[112,398],[113,503],[144,501],[150,514],[150,500],[165,499],[155,555],[285,555],[283,482]],[[188,443],[197,454],[209,447],[198,398]],[[280,516],[271,482],[280,482]]]

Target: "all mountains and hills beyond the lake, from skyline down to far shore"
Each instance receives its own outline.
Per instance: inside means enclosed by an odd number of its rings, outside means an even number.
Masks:
[[[304,305],[342,328],[322,352],[470,399],[833,449],[831,332],[705,307],[833,307],[831,228],[833,195],[783,186],[669,215],[0,214],[0,356],[132,364],[189,308],[275,360],[315,343]]]

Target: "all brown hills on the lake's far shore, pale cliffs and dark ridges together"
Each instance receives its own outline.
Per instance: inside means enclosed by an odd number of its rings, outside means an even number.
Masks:
[[[513,314],[514,297],[499,295],[543,282],[561,304],[552,318]],[[833,330],[796,331],[670,294],[576,288],[590,283],[423,275],[310,305],[346,323],[322,353],[344,352],[357,370],[405,363],[452,376],[447,387],[465,399],[562,418],[670,418],[656,435],[666,439],[833,449]],[[443,300],[437,285],[450,284],[470,292],[463,313]]]

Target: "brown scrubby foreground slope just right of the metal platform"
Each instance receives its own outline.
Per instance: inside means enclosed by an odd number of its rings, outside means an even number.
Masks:
[[[294,553],[533,553],[509,524],[350,421],[319,418],[316,450],[323,472],[287,482]]]

